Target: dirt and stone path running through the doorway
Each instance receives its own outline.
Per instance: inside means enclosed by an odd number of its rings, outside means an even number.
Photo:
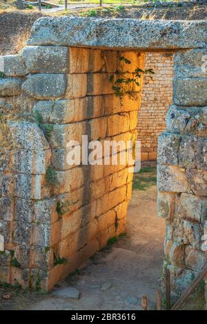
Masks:
[[[155,168],[146,167],[135,176],[126,233],[53,290],[76,287],[79,300],[55,297],[52,292],[12,292],[8,300],[1,298],[0,309],[141,310],[143,294],[148,296],[150,309],[155,309],[165,236],[164,220],[156,215],[155,179]],[[0,290],[0,294],[6,292]]]

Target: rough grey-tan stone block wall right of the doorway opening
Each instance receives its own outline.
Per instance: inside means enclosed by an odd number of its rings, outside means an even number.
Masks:
[[[166,219],[165,267],[181,294],[206,264],[206,50],[175,54],[173,103],[158,145],[158,216]]]

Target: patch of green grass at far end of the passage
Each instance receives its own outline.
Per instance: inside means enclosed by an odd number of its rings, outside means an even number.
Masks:
[[[157,184],[157,170],[156,167],[144,166],[135,174],[133,180],[133,190],[146,190],[152,185]]]

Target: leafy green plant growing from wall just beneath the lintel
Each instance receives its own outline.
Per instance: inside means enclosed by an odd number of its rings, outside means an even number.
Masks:
[[[126,57],[119,57],[119,63],[126,63],[127,65],[131,64],[131,61]],[[110,75],[109,81],[113,83],[112,90],[114,91],[117,97],[120,97],[121,101],[125,94],[130,97],[132,100],[137,100],[137,91],[136,86],[140,85],[141,77],[144,74],[155,74],[152,69],[142,70],[140,68],[136,68],[133,72],[129,72],[126,70],[125,72],[121,72],[119,69],[117,70],[118,77],[115,78],[114,74]],[[151,75],[150,75],[151,78]]]

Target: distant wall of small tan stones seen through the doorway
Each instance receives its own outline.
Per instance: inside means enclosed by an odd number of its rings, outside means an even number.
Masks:
[[[141,108],[138,112],[137,139],[141,141],[141,160],[157,159],[157,139],[166,130],[166,112],[172,103],[172,53],[146,53],[145,68],[152,69],[152,79],[144,76]]]

